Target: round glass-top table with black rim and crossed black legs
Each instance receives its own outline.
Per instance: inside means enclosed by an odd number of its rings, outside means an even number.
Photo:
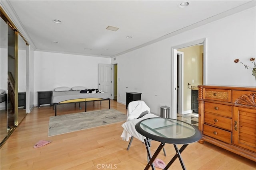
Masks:
[[[150,160],[145,167],[145,170],[150,166],[154,169],[152,163],[160,150],[164,147],[165,143],[173,144],[177,154],[175,154],[164,169],[168,169],[176,158],[179,158],[182,168],[186,169],[180,153],[188,146],[188,144],[199,141],[202,138],[201,132],[193,125],[176,119],[162,117],[144,119],[135,125],[135,129],[138,133],[146,137],[145,145]],[[160,142],[158,149],[152,157],[148,150],[150,147],[148,146],[150,140]],[[183,146],[178,149],[176,144],[183,144]]]

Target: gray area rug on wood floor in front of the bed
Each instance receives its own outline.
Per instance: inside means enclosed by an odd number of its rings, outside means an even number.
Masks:
[[[126,121],[126,114],[116,109],[103,109],[51,116],[48,136],[80,131],[120,121]]]

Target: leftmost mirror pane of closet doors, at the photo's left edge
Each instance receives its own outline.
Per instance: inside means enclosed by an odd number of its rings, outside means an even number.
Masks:
[[[1,18],[0,21],[0,141],[7,136],[7,56],[8,56],[8,26]]]

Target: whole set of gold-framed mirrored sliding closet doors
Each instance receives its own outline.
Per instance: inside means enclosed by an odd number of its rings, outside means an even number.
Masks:
[[[26,40],[1,10],[0,141],[1,147],[26,116]]]

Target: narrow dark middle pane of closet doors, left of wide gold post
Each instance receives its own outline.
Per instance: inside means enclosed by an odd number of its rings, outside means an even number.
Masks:
[[[15,125],[15,80],[16,80],[16,61],[15,61],[15,33],[14,30],[8,25],[8,83],[7,83],[7,88],[8,88],[8,95],[7,95],[7,128],[8,131],[12,128],[14,128]]]

